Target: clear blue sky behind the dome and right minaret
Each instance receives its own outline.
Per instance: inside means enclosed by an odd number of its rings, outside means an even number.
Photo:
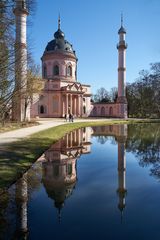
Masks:
[[[66,39],[78,57],[78,81],[100,87],[117,86],[118,29],[124,15],[127,82],[142,69],[160,60],[159,0],[37,0],[33,26],[29,30],[36,63],[57,30],[58,14]]]

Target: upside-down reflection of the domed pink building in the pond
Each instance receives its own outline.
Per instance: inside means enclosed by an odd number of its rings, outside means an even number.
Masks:
[[[59,220],[65,200],[71,196],[77,181],[76,162],[90,152],[92,129],[77,129],[65,135],[45,152],[42,182],[58,209]]]

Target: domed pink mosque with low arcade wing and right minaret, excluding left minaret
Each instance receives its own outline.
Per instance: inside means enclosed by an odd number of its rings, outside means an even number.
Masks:
[[[118,98],[115,103],[91,103],[90,85],[77,81],[77,57],[72,44],[60,29],[54,34],[41,58],[44,89],[34,96],[31,117],[120,117],[127,118],[125,43],[121,21],[118,31]]]

